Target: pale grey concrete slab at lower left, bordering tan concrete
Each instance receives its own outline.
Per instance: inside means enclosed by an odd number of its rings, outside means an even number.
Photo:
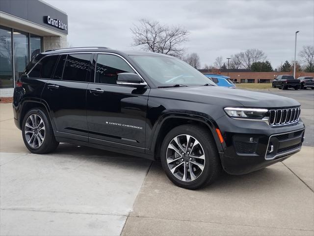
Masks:
[[[151,164],[112,153],[0,160],[1,235],[119,235]]]

